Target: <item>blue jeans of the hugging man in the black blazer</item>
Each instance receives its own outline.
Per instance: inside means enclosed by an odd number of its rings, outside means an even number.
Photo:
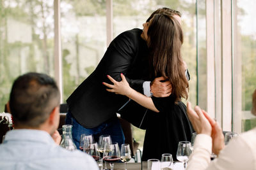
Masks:
[[[111,136],[112,142],[117,142],[119,145],[119,148],[121,149],[121,145],[124,144],[125,138],[124,138],[124,132],[122,130],[122,127],[120,125],[120,122],[117,117],[111,118],[111,120],[108,120],[102,124],[100,124],[97,127],[93,128],[85,128],[82,125],[80,125],[74,117],[72,117],[70,111],[68,111],[66,115],[65,120],[66,125],[73,125],[72,127],[72,138],[74,140],[74,143],[79,149],[79,141],[81,134],[92,134],[94,141],[99,141],[99,136],[102,134],[108,134]]]

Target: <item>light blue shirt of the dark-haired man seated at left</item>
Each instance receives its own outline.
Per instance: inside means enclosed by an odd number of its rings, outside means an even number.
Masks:
[[[8,131],[0,145],[0,169],[99,169],[95,160],[79,150],[70,152],[56,145],[45,131]]]

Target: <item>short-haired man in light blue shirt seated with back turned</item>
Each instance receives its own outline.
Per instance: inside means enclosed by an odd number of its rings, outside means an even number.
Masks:
[[[54,143],[52,138],[60,144],[60,92],[52,78],[39,73],[19,76],[9,103],[15,130],[8,131],[0,145],[0,169],[99,169],[90,155]]]

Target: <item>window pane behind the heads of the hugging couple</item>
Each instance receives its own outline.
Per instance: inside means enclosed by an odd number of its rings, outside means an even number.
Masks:
[[[121,32],[133,28],[142,29],[150,14],[157,8],[168,7],[179,10],[182,13],[182,27],[184,31],[184,43],[182,57],[188,64],[191,80],[189,81],[189,101],[196,104],[196,1],[178,0],[113,0],[113,31],[114,38]],[[204,6],[203,6],[204,7]],[[202,27],[204,29],[204,27]],[[202,32],[204,34],[204,32]],[[204,36],[204,35],[203,35]],[[205,38],[203,39],[205,41]],[[205,46],[202,45],[202,51]],[[204,53],[204,52],[202,52]],[[206,87],[205,87],[206,88]],[[134,138],[143,144],[144,132],[136,127],[133,128]],[[142,147],[143,145],[140,145]]]

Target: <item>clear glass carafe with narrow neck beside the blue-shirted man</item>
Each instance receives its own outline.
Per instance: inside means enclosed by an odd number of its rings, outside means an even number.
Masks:
[[[62,125],[62,131],[60,146],[67,150],[76,150],[76,145],[72,139],[72,125]]]

